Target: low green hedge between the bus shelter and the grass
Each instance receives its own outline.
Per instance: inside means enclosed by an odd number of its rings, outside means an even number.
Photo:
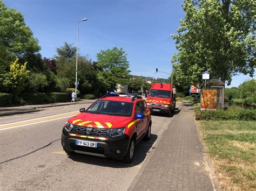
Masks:
[[[227,110],[203,110],[196,111],[196,120],[242,120],[256,121],[256,110],[230,107]]]

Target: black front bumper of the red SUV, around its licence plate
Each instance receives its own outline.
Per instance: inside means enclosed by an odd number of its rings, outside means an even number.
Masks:
[[[76,140],[88,140],[97,143],[97,148],[76,145]],[[127,135],[109,137],[107,140],[90,139],[73,137],[63,128],[62,131],[62,146],[70,152],[82,154],[97,155],[102,157],[110,157],[114,159],[123,159],[127,153],[130,144],[130,137]],[[120,151],[118,154],[117,151]]]

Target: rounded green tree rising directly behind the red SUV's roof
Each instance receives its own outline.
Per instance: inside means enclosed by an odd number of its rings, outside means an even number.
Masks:
[[[107,89],[116,89],[117,83],[128,84],[129,61],[123,48],[113,47],[97,54],[98,78]]]

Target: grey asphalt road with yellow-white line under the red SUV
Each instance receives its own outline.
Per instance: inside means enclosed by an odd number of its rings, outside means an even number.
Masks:
[[[79,108],[89,105],[65,105],[1,117],[0,190],[128,189],[173,117],[152,116],[151,139],[137,145],[132,164],[91,155],[68,156],[60,144],[63,125]],[[177,102],[177,109],[180,105]]]

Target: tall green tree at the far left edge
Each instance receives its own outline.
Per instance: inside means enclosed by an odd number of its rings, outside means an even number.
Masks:
[[[8,63],[19,58],[21,62],[28,62],[28,68],[42,67],[38,40],[26,26],[21,12],[8,9],[0,0],[0,43],[6,53],[4,60]],[[2,63],[0,63],[2,65]]]

